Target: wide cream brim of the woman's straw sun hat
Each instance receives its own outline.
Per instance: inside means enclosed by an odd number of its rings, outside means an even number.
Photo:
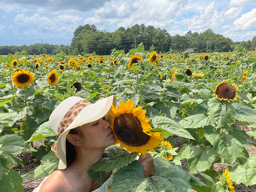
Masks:
[[[58,169],[66,168],[66,135],[69,133],[69,130],[102,118],[107,114],[112,104],[116,105],[116,97],[114,95],[86,105],[76,115],[72,123],[59,135],[56,141],[56,152],[59,157]]]

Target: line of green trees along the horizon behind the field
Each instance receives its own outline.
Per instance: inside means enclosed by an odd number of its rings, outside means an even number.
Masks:
[[[56,54],[61,50],[65,54],[87,54],[95,52],[99,55],[110,54],[113,48],[128,52],[143,42],[146,50],[154,48],[158,52],[184,51],[192,48],[195,52],[227,52],[237,45],[248,50],[255,50],[256,36],[252,40],[233,42],[230,38],[214,33],[210,28],[204,32],[187,31],[184,35],[171,36],[166,29],[155,28],[152,25],[135,24],[131,27],[119,27],[110,32],[98,30],[94,24],[78,26],[74,32],[70,45],[56,45],[35,43],[29,46],[0,46],[0,54],[14,54],[15,51],[25,50],[29,54]]]

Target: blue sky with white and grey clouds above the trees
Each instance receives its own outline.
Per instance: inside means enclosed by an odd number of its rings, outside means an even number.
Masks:
[[[211,28],[247,41],[256,35],[256,0],[0,0],[0,46],[69,45],[79,25],[115,31],[142,23],[171,36]]]

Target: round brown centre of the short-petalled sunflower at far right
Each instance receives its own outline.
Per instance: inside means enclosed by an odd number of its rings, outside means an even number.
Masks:
[[[221,83],[216,88],[216,95],[219,98],[233,99],[235,97],[235,90],[228,83]]]

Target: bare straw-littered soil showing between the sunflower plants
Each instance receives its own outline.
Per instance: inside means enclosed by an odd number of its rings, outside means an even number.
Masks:
[[[241,130],[244,132],[244,134],[246,135],[246,137],[248,139],[252,140],[253,142],[256,142],[256,139],[249,136],[245,132],[245,131],[249,131],[249,130],[254,130],[255,128],[252,129],[251,127],[245,126],[243,124],[239,124],[239,123],[236,123],[236,124],[237,124],[237,126],[239,126],[241,128]],[[187,143],[180,144],[180,137],[178,137],[178,136],[176,136],[174,138],[175,138],[175,144],[176,144],[176,146],[179,147],[179,149],[182,146],[184,146],[185,144],[187,144]],[[33,145],[36,146],[36,147],[39,147],[40,145],[43,145],[43,142],[44,142],[44,139],[34,141]],[[256,147],[253,146],[252,144],[249,144],[249,146],[246,150],[251,155],[252,153],[256,152]],[[22,159],[22,165],[23,166],[20,165],[20,164],[15,164],[15,165],[12,165],[10,168],[18,171],[20,175],[23,175],[23,174],[25,174],[29,171],[34,170],[40,164],[40,161],[36,160],[33,157],[32,153],[30,151],[24,150],[22,153],[20,153],[18,155],[18,157]],[[181,163],[182,163],[182,168],[184,170],[188,171],[188,166],[187,166],[186,159],[183,159],[181,161]],[[217,170],[217,171],[223,171],[228,165],[229,164],[223,164],[223,163],[220,163],[220,162],[216,162],[216,163],[214,163],[214,169]],[[235,165],[235,163],[232,164],[232,166],[234,166],[234,165]],[[202,181],[204,181],[204,178],[202,176],[200,176],[199,174],[195,175],[195,176],[197,176]],[[36,179],[30,179],[30,180],[24,179],[23,182],[22,182],[22,185],[23,185],[23,188],[24,188],[25,191],[30,192],[35,187],[37,187],[42,180],[43,180],[43,178],[36,178]],[[250,185],[250,186],[245,186],[244,184],[235,184],[235,183],[233,183],[233,186],[235,187],[236,192],[255,192],[256,191],[256,184],[255,185]],[[195,192],[195,191],[193,190],[193,192]]]

